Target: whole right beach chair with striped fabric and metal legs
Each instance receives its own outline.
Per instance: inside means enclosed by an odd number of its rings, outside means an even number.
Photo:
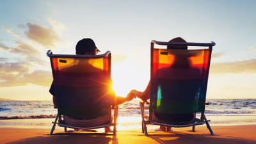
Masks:
[[[189,49],[160,49],[156,45],[187,45]],[[151,42],[149,116],[140,102],[142,132],[147,125],[190,127],[206,124],[205,98],[212,46],[215,43]],[[193,47],[193,49],[191,49]],[[195,49],[196,48],[196,49]],[[200,114],[200,118],[196,115]]]

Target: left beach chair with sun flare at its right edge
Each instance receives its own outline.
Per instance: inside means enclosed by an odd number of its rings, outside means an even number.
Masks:
[[[51,60],[54,90],[58,104],[58,113],[50,135],[56,124],[72,129],[99,129],[113,126],[116,134],[118,106],[113,106],[111,82],[111,52],[89,55],[52,54]],[[113,96],[113,95],[112,95]],[[114,99],[115,100],[115,99]],[[114,109],[112,111],[112,109]],[[79,120],[92,120],[98,116],[108,115],[104,124],[83,127],[65,123],[65,116]],[[113,118],[111,118],[113,115]]]

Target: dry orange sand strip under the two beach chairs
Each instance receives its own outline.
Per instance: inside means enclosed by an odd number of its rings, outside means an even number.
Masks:
[[[47,128],[47,127],[46,127]],[[256,125],[212,126],[215,135],[206,127],[174,128],[172,132],[150,131],[144,136],[141,129],[119,130],[116,136],[102,132],[64,132],[56,129],[49,136],[49,129],[0,128],[0,143],[256,143]]]

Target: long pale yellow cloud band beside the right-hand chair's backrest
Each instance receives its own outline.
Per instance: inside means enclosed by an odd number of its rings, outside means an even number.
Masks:
[[[256,73],[256,59],[228,63],[212,63],[211,74]]]

